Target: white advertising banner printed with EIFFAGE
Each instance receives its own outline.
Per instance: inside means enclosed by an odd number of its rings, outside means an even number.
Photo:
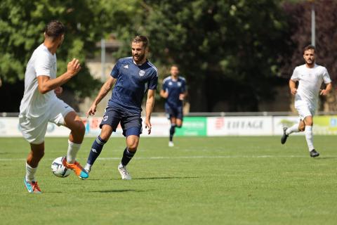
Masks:
[[[207,117],[207,136],[271,135],[272,117]]]

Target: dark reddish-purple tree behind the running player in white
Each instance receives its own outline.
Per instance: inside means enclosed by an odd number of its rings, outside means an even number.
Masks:
[[[293,69],[304,63],[303,48],[311,44],[311,8],[315,4],[316,18],[316,63],[327,68],[333,82],[337,79],[337,1],[315,0],[298,1],[296,4],[285,2],[284,12],[289,18],[291,30],[291,53],[281,68],[282,76],[290,78]],[[290,48],[291,47],[291,48]],[[319,110],[337,111],[336,91],[333,88],[331,94],[321,97]]]

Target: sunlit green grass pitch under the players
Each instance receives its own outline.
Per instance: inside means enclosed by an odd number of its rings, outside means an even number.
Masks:
[[[93,138],[85,139],[86,162]],[[315,136],[319,158],[304,136],[141,139],[122,181],[117,165],[124,139],[110,139],[86,181],[51,173],[67,139],[46,139],[37,180],[22,179],[28,144],[0,139],[0,224],[336,224],[336,136]]]

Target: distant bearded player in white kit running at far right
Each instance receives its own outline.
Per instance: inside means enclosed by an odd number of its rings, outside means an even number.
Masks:
[[[291,94],[295,96],[295,108],[300,116],[300,122],[289,128],[284,127],[281,143],[286,143],[289,134],[305,131],[305,139],[308,143],[310,156],[317,157],[319,153],[315,150],[312,138],[312,117],[317,109],[318,96],[326,96],[331,91],[332,84],[326,68],[315,63],[314,46],[305,47],[303,58],[305,64],[296,67],[289,80],[289,88]],[[297,89],[296,82],[298,82]],[[325,89],[320,89],[323,82],[326,87]]]

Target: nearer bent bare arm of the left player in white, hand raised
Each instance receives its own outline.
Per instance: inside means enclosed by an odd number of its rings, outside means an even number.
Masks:
[[[77,75],[79,70],[81,70],[81,64],[79,63],[78,59],[74,58],[72,61],[68,63],[67,72],[60,75],[60,77],[57,77],[55,79],[51,79],[51,77],[44,75],[37,77],[40,93],[46,94],[48,91],[54,90],[58,88],[58,86],[65,84],[72,77],[74,77],[74,75]]]

